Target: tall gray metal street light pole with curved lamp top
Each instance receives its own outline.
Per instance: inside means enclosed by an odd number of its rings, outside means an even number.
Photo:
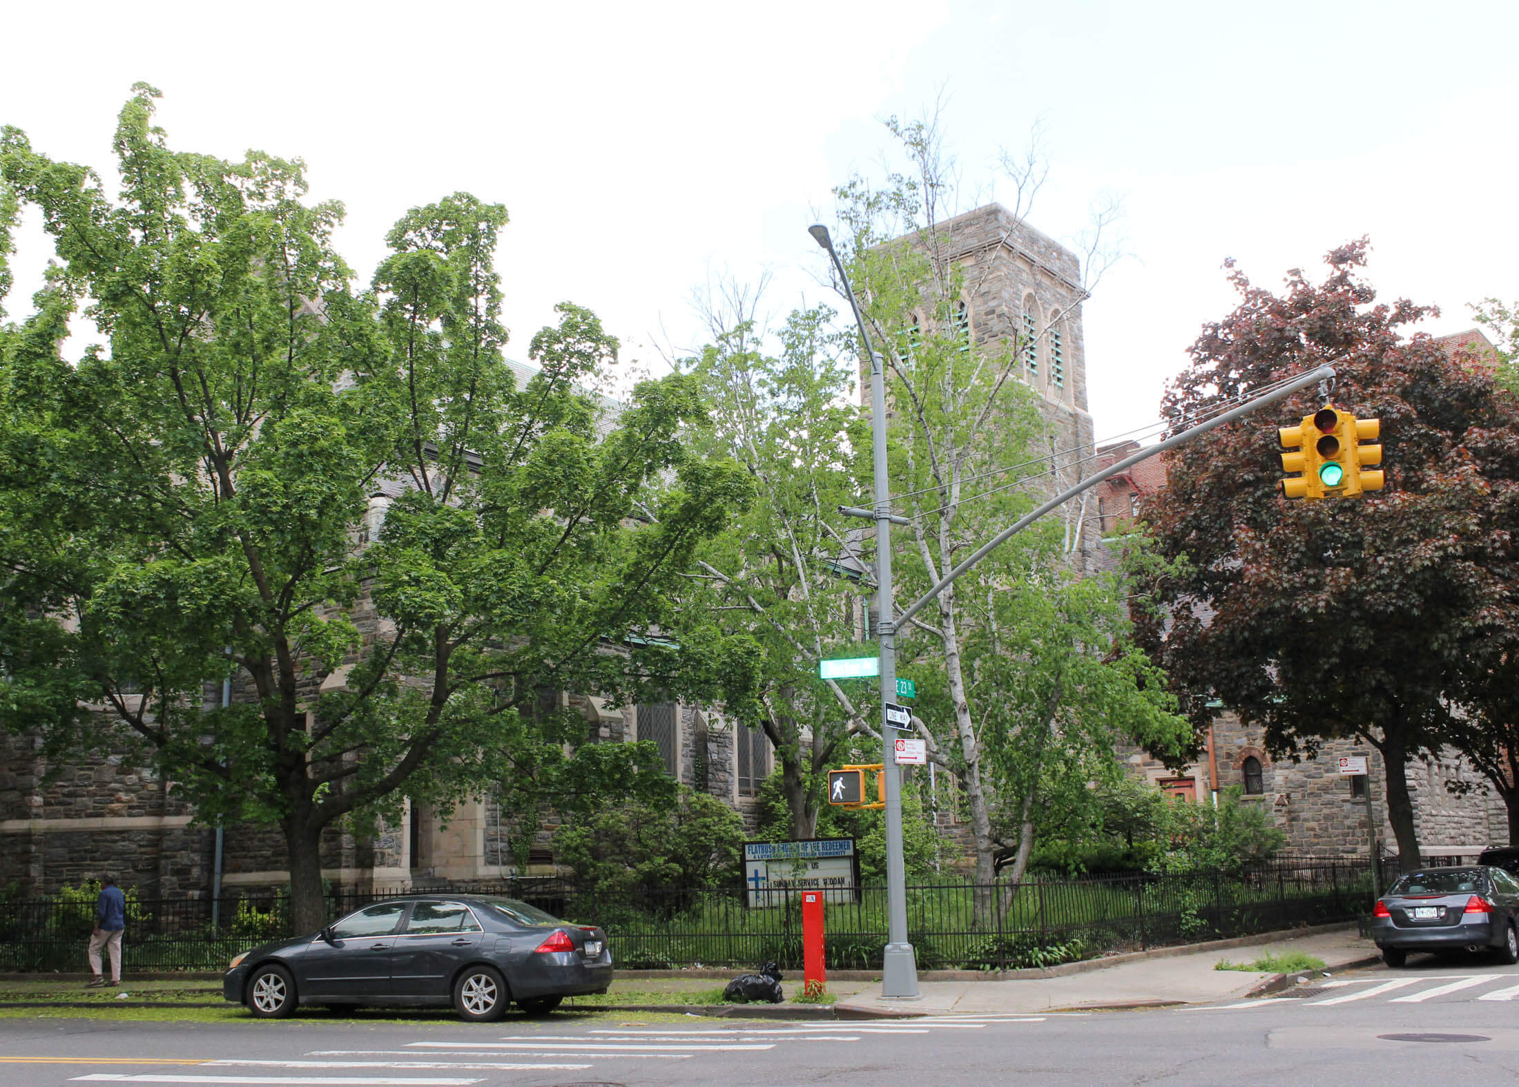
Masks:
[[[917,959],[907,940],[907,870],[902,864],[902,772],[896,768],[896,746],[886,724],[886,705],[896,701],[896,623],[892,601],[892,517],[890,486],[886,470],[886,372],[881,356],[870,347],[860,303],[855,301],[843,261],[834,251],[828,228],[822,223],[807,233],[834,261],[849,309],[860,327],[860,342],[870,359],[870,438],[875,459],[875,564],[876,564],[876,634],[881,643],[881,765],[886,777],[886,932],[887,944],[881,964],[881,996],[917,999]]]

